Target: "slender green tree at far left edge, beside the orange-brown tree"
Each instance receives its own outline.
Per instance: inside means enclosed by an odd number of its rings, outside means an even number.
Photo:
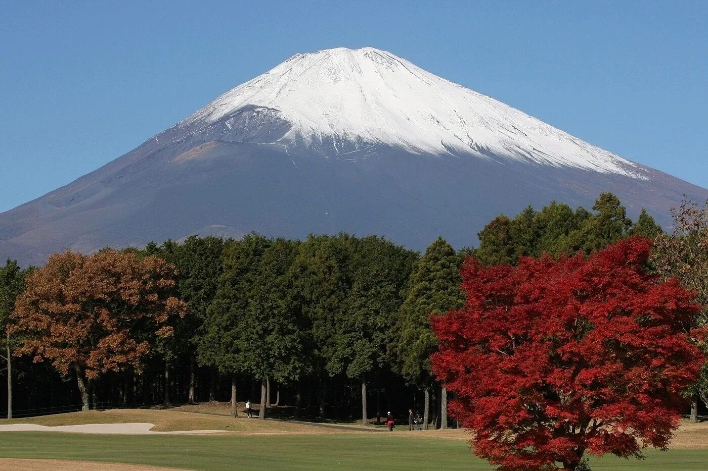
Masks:
[[[7,418],[12,419],[12,355],[13,339],[10,337],[10,315],[15,309],[17,297],[25,289],[25,273],[16,260],[8,259],[0,267],[0,328],[5,331],[4,356],[7,366]]]

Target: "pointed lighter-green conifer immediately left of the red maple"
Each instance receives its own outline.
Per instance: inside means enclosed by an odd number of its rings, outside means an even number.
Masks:
[[[462,307],[464,293],[459,289],[461,257],[447,240],[438,237],[413,269],[405,300],[399,311],[395,345],[401,376],[408,383],[420,385],[425,392],[423,423],[428,427],[428,407],[433,374],[430,355],[437,349],[438,339],[430,330],[430,314],[439,315]],[[445,419],[442,422],[445,426]]]

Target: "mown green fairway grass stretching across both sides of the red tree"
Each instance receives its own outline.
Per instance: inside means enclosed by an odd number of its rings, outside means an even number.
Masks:
[[[593,471],[706,470],[708,450],[649,450],[644,461],[607,457]],[[130,436],[5,432],[0,458],[59,458],[191,470],[490,470],[464,441],[395,434]]]

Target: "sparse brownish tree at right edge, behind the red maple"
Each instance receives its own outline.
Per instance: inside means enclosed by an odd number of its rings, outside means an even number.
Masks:
[[[687,289],[695,292],[702,306],[696,319],[697,327],[708,325],[708,201],[704,205],[685,200],[672,208],[673,234],[660,233],[655,239],[652,262],[664,278],[676,277]],[[708,342],[700,345],[708,353]],[[708,364],[704,364],[698,382],[687,391],[691,400],[691,421],[697,421],[696,396],[708,405]]]

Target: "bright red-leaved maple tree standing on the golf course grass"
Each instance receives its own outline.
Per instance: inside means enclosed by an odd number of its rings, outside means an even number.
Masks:
[[[666,448],[679,393],[697,377],[699,312],[630,238],[590,257],[462,269],[467,304],[432,316],[433,371],[458,395],[474,452],[504,471],[583,469],[588,454]]]

